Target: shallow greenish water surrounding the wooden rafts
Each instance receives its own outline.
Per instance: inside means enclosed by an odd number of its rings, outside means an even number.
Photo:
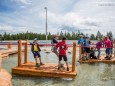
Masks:
[[[34,61],[32,53],[29,51],[29,61]],[[57,63],[55,54],[41,52],[44,63]],[[78,54],[77,54],[78,55]],[[71,64],[72,54],[68,54],[69,64]],[[77,58],[78,60],[78,58]],[[17,54],[11,55],[3,60],[3,67],[11,73],[11,68],[17,65]],[[44,77],[23,77],[13,75],[13,86],[115,86],[115,65],[104,63],[90,63],[77,65],[77,77],[71,79],[44,78]]]

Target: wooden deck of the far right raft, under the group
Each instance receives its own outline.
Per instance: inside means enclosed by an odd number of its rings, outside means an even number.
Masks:
[[[79,60],[81,63],[95,63],[95,62],[102,62],[102,63],[115,63],[115,57],[112,55],[111,60],[106,60],[105,55],[102,55],[100,59],[90,59],[86,61]]]

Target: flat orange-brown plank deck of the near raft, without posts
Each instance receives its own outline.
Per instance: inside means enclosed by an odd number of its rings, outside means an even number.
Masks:
[[[12,69],[13,74],[26,75],[26,76],[40,76],[40,77],[56,77],[56,78],[75,78],[76,70],[72,72],[72,66],[69,65],[70,71],[65,69],[57,70],[57,64],[45,64],[40,67],[35,67],[35,63],[29,62],[22,64],[20,67]]]

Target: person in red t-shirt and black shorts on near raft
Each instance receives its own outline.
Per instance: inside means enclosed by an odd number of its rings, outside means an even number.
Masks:
[[[68,46],[66,44],[66,38],[63,37],[62,41],[59,42],[56,45],[56,48],[59,48],[59,63],[58,63],[58,70],[61,68],[61,60],[63,58],[63,60],[66,62],[66,66],[67,66],[67,71],[69,71],[69,66],[68,66],[68,61],[67,61],[67,55],[66,55],[66,51],[68,49]]]

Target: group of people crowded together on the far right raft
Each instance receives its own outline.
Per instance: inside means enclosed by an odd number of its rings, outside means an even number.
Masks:
[[[80,35],[80,39],[78,40],[78,44],[81,46],[82,60],[89,59],[98,59],[101,60],[101,48],[105,48],[106,60],[111,60],[113,53],[113,39],[111,36],[104,36],[98,40],[95,44],[96,46],[91,46],[93,44],[89,37]],[[98,52],[96,55],[95,52]]]

